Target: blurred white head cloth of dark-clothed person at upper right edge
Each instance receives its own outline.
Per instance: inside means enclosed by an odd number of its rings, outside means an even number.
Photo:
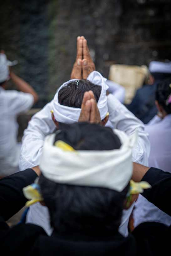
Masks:
[[[171,73],[171,61],[151,61],[148,69],[152,73]]]

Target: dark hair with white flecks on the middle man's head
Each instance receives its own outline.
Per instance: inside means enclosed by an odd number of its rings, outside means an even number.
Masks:
[[[90,90],[93,91],[96,102],[98,102],[101,93],[100,85],[95,85],[88,80],[76,80],[69,83],[67,86],[60,89],[58,93],[59,104],[73,108],[81,108],[84,93]]]

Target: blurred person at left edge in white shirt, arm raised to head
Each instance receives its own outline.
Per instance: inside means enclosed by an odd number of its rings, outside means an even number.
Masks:
[[[10,67],[17,62],[8,61],[5,52],[0,51],[0,177],[18,170],[17,115],[30,109],[38,100],[34,89],[11,71]],[[10,78],[21,92],[6,90]]]

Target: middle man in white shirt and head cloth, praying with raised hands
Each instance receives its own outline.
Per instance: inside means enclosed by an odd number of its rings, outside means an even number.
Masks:
[[[81,40],[78,40],[78,43],[81,44]],[[98,101],[96,101],[100,112],[102,125],[105,125],[109,118],[110,125],[112,127],[125,131],[128,136],[131,136],[138,129],[137,147],[133,149],[132,160],[141,164],[148,165],[149,141],[148,135],[144,132],[143,123],[138,120],[131,112],[129,112],[127,108],[111,94],[106,96],[106,90],[108,88],[105,83],[106,79],[102,77],[99,72],[94,71],[95,66],[93,66],[94,63],[89,56],[89,51],[85,39],[82,40],[82,44],[83,46],[85,44],[85,46],[82,48],[83,50],[86,48],[84,55],[86,56],[86,60],[88,59],[88,61],[91,63],[90,68],[86,67],[85,69],[83,65],[85,58],[83,58],[83,60],[79,59],[78,54],[76,64],[74,65],[71,74],[72,79],[61,85],[55,94],[54,99],[49,104],[47,104],[44,109],[32,117],[28,124],[28,128],[24,131],[23,146],[19,161],[20,170],[39,165],[44,138],[46,135],[53,133],[55,128],[58,127],[59,122],[71,124],[79,120],[81,114],[81,102],[79,106],[76,105],[76,101],[73,103],[73,105],[71,104],[73,97],[70,97],[70,89],[75,90],[75,95],[77,92],[81,93],[80,88],[83,86],[83,81],[79,78],[85,79],[85,77],[87,78],[87,83],[89,84],[89,87],[87,87],[86,90],[93,90],[94,86],[98,88],[100,87],[101,89],[98,97],[97,95],[94,96],[95,98],[98,98]],[[89,63],[88,61],[86,63]],[[73,76],[75,76],[75,79]],[[90,85],[91,83],[94,85]],[[93,88],[91,86],[93,86]],[[67,96],[63,99],[62,97],[64,93]],[[83,98],[84,91],[82,91],[82,94],[77,94],[77,96],[78,95],[81,95],[81,97],[79,97],[80,99],[83,99],[83,101],[89,100],[89,97],[91,97],[89,94],[85,93],[85,97]],[[50,111],[53,112],[52,117]],[[123,213],[120,232],[122,232],[124,235],[128,234],[127,224],[132,209],[133,205],[132,208]],[[39,203],[30,207],[27,221],[43,226],[48,234],[51,234],[52,232],[48,221],[48,210],[46,207],[43,207]]]

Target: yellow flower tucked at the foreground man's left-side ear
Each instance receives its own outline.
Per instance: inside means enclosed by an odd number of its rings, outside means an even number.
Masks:
[[[39,193],[38,189],[36,188],[37,184],[31,184],[27,187],[23,188],[23,194],[27,199],[30,199],[26,202],[26,206],[30,206],[36,202],[43,201],[43,197]]]

